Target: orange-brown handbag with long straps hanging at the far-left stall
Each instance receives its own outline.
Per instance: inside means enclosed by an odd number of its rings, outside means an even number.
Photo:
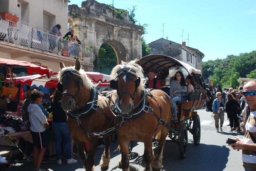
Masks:
[[[8,71],[9,71],[9,75],[10,75],[11,80],[10,80],[10,83],[9,83],[9,87],[6,87],[5,84],[6,84],[6,80],[7,80],[7,76],[8,76]],[[10,87],[11,82],[13,84],[12,87]],[[15,87],[15,83],[14,83],[13,76],[12,76],[12,70],[11,70],[10,67],[8,67],[7,72],[6,72],[6,76],[5,76],[5,80],[4,80],[4,86],[2,87],[1,95],[2,96],[8,96],[9,98],[12,98],[12,97],[16,96],[18,90],[19,89]]]

